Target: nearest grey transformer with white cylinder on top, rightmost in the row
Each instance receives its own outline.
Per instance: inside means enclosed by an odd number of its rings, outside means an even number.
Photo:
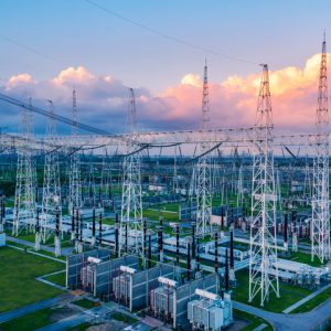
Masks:
[[[229,293],[225,293],[223,300],[220,296],[202,289],[196,289],[195,295],[200,296],[200,299],[188,303],[188,318],[193,329],[220,331],[233,323]]]

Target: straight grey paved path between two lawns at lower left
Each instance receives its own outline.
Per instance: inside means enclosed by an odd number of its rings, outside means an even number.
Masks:
[[[24,307],[14,309],[14,310],[10,310],[7,312],[2,312],[0,313],[0,323],[2,322],[7,322],[9,320],[19,318],[21,316],[24,316],[26,313],[31,313],[44,308],[49,308],[58,303],[63,303],[66,301],[70,301],[72,299],[74,299],[75,296],[71,295],[71,293],[65,293],[55,298],[51,298],[51,299],[46,299],[46,300],[42,300],[35,303],[31,303],[31,305],[26,305]]]

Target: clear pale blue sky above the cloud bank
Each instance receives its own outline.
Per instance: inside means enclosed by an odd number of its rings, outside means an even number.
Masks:
[[[215,52],[270,68],[302,65],[330,26],[330,1],[106,1],[95,3]],[[210,78],[248,74],[250,64],[207,54],[119,20],[84,0],[1,0],[0,35],[44,52],[40,56],[0,38],[1,77],[29,72],[54,76],[84,65],[134,87],[159,92],[188,72],[200,73],[209,58]]]

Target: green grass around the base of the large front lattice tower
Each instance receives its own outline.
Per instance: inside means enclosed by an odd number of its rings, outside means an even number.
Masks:
[[[248,302],[248,270],[237,271],[236,278],[238,287],[233,290],[232,298],[236,301],[260,308],[258,296],[254,298],[252,303]],[[282,312],[282,310],[286,308],[310,295],[312,290],[280,282],[279,292],[280,298],[276,298],[275,293],[273,292],[269,301],[265,302],[263,309],[274,312]]]

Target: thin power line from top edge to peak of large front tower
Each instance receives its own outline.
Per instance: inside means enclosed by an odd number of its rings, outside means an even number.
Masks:
[[[148,25],[145,25],[145,24],[141,24],[141,23],[139,23],[137,21],[128,19],[128,18],[126,18],[126,17],[124,17],[124,15],[121,15],[121,14],[119,14],[119,13],[117,13],[117,12],[108,9],[108,8],[105,8],[105,7],[103,7],[103,6],[98,4],[98,3],[95,3],[92,0],[85,0],[85,1],[87,3],[94,6],[95,8],[98,8],[99,10],[102,10],[102,11],[104,11],[104,12],[106,12],[106,13],[108,13],[108,14],[110,14],[110,15],[119,19],[119,20],[126,21],[126,22],[128,22],[128,23],[130,23],[132,25],[136,25],[136,26],[138,26],[138,28],[140,28],[142,30],[146,30],[146,31],[148,31],[148,32],[150,32],[152,34],[156,34],[156,35],[162,36],[164,39],[168,39],[168,40],[170,40],[172,42],[175,42],[178,44],[182,44],[182,45],[188,46],[190,49],[194,49],[194,50],[197,50],[197,51],[201,51],[201,52],[204,52],[204,53],[209,53],[209,54],[213,54],[213,55],[216,55],[216,56],[221,56],[221,57],[224,57],[224,58],[227,58],[227,60],[243,62],[243,63],[247,63],[247,64],[252,64],[252,65],[258,65],[257,62],[253,62],[253,61],[249,61],[249,60],[245,60],[245,58],[241,58],[241,57],[237,57],[237,56],[233,56],[233,55],[224,54],[224,53],[221,53],[221,52],[216,52],[214,50],[210,50],[207,47],[204,47],[204,46],[201,46],[201,45],[197,45],[197,44],[193,44],[193,43],[186,42],[184,40],[181,40],[181,39],[179,39],[177,36],[163,33],[163,32],[158,31],[158,30],[156,30],[153,28],[150,28]]]

